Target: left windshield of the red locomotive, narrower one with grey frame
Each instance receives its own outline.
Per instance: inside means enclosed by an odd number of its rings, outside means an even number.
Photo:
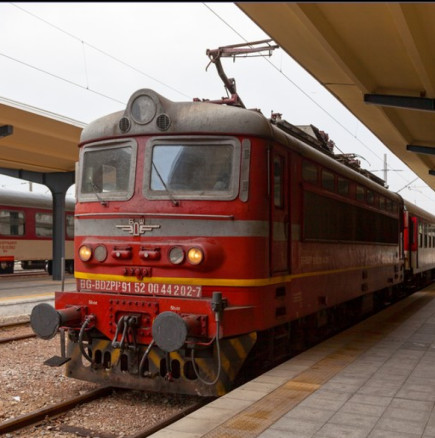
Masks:
[[[129,199],[133,194],[135,162],[133,140],[85,147],[81,157],[79,200]]]

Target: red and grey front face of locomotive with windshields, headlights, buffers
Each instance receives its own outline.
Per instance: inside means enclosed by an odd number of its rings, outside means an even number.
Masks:
[[[204,106],[215,132],[199,128]],[[267,248],[264,224],[246,220],[250,209],[268,214],[248,202],[251,141],[228,134],[239,113],[245,130],[267,125],[251,111],[139,90],[124,113],[84,130],[77,291],[56,293],[54,313],[35,308],[32,324],[46,339],[67,330],[68,375],[103,382],[110,369],[114,385],[203,395],[233,385],[259,312],[235,292],[267,270],[253,257]]]

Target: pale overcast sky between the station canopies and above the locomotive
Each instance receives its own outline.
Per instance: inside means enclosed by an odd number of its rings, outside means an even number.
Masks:
[[[269,38],[230,2],[0,2],[0,17],[0,97],[83,123],[123,110],[140,88],[173,101],[226,96],[207,49]],[[433,191],[282,49],[222,65],[247,108],[316,126],[381,178],[386,155],[389,189],[435,214]],[[3,188],[48,192],[0,176]]]

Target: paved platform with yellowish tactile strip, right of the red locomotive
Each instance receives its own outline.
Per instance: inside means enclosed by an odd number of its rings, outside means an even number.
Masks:
[[[434,438],[435,285],[152,438]]]

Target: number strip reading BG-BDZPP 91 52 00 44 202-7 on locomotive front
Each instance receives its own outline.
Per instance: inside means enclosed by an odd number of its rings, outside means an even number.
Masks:
[[[80,290],[139,295],[200,298],[202,287],[188,284],[133,283],[115,280],[80,280]]]

